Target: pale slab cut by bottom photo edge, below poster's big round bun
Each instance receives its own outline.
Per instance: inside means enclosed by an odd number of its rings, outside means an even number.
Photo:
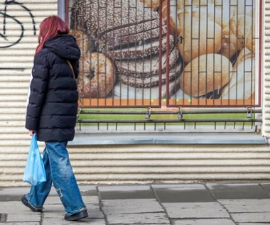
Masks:
[[[230,219],[181,219],[173,221],[173,225],[236,225]]]

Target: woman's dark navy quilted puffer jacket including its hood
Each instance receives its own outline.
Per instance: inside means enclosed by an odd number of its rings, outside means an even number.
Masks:
[[[49,38],[35,56],[26,128],[37,133],[38,141],[72,141],[77,114],[77,78],[80,48],[72,35]]]

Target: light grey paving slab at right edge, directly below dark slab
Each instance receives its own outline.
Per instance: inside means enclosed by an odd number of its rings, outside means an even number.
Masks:
[[[270,212],[270,199],[225,199],[219,202],[229,211]]]

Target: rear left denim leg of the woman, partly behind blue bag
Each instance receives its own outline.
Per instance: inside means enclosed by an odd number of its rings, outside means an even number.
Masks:
[[[43,207],[43,204],[50,193],[52,187],[52,179],[50,176],[50,160],[46,148],[43,151],[43,163],[47,180],[36,186],[31,186],[31,190],[26,194],[28,201],[35,207]]]

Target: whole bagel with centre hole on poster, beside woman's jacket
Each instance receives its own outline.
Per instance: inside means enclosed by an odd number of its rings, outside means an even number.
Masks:
[[[112,60],[102,53],[84,55],[80,60],[78,89],[83,98],[104,98],[112,91],[115,69]]]

